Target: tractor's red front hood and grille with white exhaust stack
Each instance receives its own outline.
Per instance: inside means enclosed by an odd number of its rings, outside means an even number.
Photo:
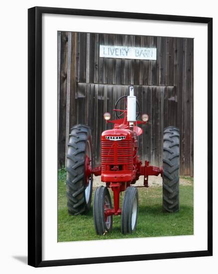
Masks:
[[[137,153],[137,138],[133,125],[136,121],[136,97],[132,86],[126,99],[128,111],[126,110],[123,121],[126,121],[127,127],[123,128],[122,124],[115,124],[112,130],[102,133],[103,182],[131,182],[135,179],[134,158]]]

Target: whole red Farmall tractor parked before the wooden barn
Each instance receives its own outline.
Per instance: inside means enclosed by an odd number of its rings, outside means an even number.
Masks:
[[[124,110],[117,108],[121,100],[125,101]],[[101,136],[101,165],[92,167],[91,130],[85,125],[76,125],[71,129],[67,157],[67,199],[68,212],[71,215],[86,213],[91,206],[93,174],[101,176],[106,186],[95,191],[93,215],[96,233],[103,235],[112,229],[113,215],[121,215],[121,232],[135,230],[138,217],[138,191],[133,185],[144,176],[143,186],[148,187],[148,176],[161,174],[163,178],[163,209],[167,212],[179,210],[179,130],[175,127],[164,129],[163,167],[156,167],[139,159],[138,139],[143,134],[140,124],[146,124],[148,115],[142,114],[142,121],[137,120],[139,105],[130,86],[129,96],[120,97],[115,109],[116,120],[110,121],[110,114],[105,113],[107,123],[114,124]],[[113,192],[113,206],[109,194]],[[119,196],[125,191],[122,208]]]

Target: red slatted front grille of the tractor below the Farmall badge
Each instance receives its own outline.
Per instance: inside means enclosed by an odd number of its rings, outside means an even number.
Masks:
[[[102,171],[106,171],[107,165],[121,165],[125,170],[132,169],[132,141],[102,140],[101,152]]]

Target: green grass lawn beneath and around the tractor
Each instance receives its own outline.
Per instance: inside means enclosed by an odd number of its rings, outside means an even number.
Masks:
[[[62,170],[59,173],[58,242],[193,235],[193,184],[180,186],[180,212],[174,214],[162,211],[162,186],[138,188],[139,215],[136,231],[130,235],[122,235],[121,217],[113,216],[112,232],[98,236],[94,228],[93,208],[88,215],[68,215],[65,172]]]

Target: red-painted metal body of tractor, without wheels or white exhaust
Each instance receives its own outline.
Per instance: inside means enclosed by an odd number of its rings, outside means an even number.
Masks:
[[[87,160],[87,174],[93,173],[101,175],[106,186],[113,191],[114,208],[105,208],[105,218],[110,215],[121,214],[119,208],[119,195],[125,191],[128,186],[135,184],[139,176],[144,176],[143,187],[148,187],[148,176],[162,176],[162,168],[149,165],[149,161],[142,161],[137,155],[138,136],[143,134],[143,130],[138,127],[140,124],[147,122],[136,121],[133,127],[127,122],[127,110],[114,110],[121,112],[124,118],[107,121],[114,124],[112,130],[102,133],[101,137],[101,166],[91,169]],[[107,137],[107,138],[106,138]],[[117,140],[117,138],[119,138]],[[142,187],[142,186],[141,186]]]

